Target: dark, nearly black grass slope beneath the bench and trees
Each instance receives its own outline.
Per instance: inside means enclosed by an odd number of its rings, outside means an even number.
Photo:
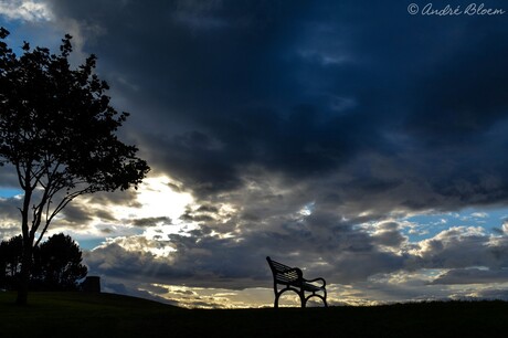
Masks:
[[[508,303],[199,310],[113,294],[0,293],[0,337],[508,337]]]

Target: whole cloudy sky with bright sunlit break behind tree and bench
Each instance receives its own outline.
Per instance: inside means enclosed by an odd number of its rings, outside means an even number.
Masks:
[[[508,299],[506,1],[0,0],[0,24],[96,54],[151,167],[52,224],[103,291],[272,306],[271,256],[329,305]],[[2,239],[21,194],[0,168]]]

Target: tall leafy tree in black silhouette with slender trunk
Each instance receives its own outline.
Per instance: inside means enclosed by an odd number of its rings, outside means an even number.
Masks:
[[[137,188],[149,171],[116,131],[127,113],[109,104],[96,56],[71,68],[71,35],[60,54],[22,46],[17,56],[0,29],[0,162],[18,173],[23,260],[18,304],[27,304],[32,252],[52,220],[76,197]]]

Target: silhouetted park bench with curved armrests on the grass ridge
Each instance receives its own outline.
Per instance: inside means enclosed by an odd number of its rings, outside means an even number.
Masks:
[[[284,265],[273,261],[271,257],[266,257],[266,261],[268,261],[274,276],[275,308],[278,308],[281,295],[287,291],[295,292],[300,297],[301,307],[305,307],[307,300],[311,297],[321,298],[325,307],[328,307],[326,302],[326,281],[324,278],[305,279],[304,273],[298,267]],[[320,282],[321,285],[316,285],[316,282]],[[310,293],[310,295],[307,296],[306,293]]]

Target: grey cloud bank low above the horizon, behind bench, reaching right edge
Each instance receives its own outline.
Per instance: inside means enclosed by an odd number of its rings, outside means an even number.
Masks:
[[[489,235],[480,228],[451,228],[411,243],[402,235],[400,223],[359,229],[321,210],[304,215],[295,212],[287,219],[272,215],[272,222],[262,226],[240,220],[202,222],[192,231],[150,241],[144,235],[110,240],[87,253],[85,263],[91,273],[130,281],[133,287],[186,285],[232,289],[242,297],[271,284],[264,260],[271,255],[304,267],[308,277],[325,276],[329,287],[343,295],[332,302],[348,304],[359,298],[379,303],[467,298],[472,296],[467,285],[478,283],[484,285],[476,291],[480,297],[481,291],[488,293],[506,282],[506,237]],[[163,251],[167,247],[171,251]],[[178,299],[174,293],[162,296]],[[212,298],[191,298],[181,305],[214,304]]]

